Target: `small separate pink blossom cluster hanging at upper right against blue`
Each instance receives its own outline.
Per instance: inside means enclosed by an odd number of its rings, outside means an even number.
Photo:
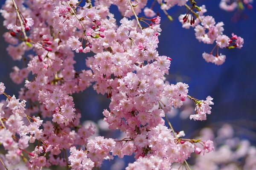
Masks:
[[[219,48],[241,48],[244,44],[244,39],[238,37],[234,33],[232,33],[232,37],[229,38],[227,35],[223,34],[224,31],[224,23],[223,22],[215,22],[214,17],[212,16],[205,16],[204,13],[207,12],[205,6],[200,7],[201,11],[192,14],[182,14],[179,17],[180,22],[183,24],[183,28],[190,28],[194,27],[195,30],[195,37],[198,39],[199,42],[204,42],[205,44],[213,44],[216,42],[216,45],[212,49],[212,51],[208,53],[203,53],[203,58],[207,62],[212,62],[215,65],[221,65],[225,62],[226,56],[223,54],[219,54]],[[192,16],[196,15],[197,18],[194,20]],[[187,20],[183,20],[184,17]],[[193,23],[191,23],[191,19],[193,18]],[[185,21],[185,22],[184,22]],[[201,24],[200,24],[201,23]],[[234,40],[234,41],[233,41]],[[215,55],[213,55],[213,51],[216,49]]]

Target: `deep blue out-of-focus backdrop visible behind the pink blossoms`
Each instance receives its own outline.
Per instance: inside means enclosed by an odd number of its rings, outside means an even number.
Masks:
[[[213,97],[212,114],[207,116],[206,121],[189,120],[187,115],[194,113],[193,103],[187,102],[180,110],[173,110],[169,114],[170,121],[175,130],[184,130],[186,137],[196,135],[202,127],[218,128],[222,123],[229,122],[234,125],[235,133],[241,138],[249,139],[251,144],[256,144],[256,10],[245,9],[242,13],[236,14],[236,21],[232,18],[236,12],[227,12],[219,8],[220,0],[197,0],[198,6],[205,5],[207,13],[215,18],[215,22],[224,22],[224,34],[231,36],[234,32],[244,38],[244,47],[241,49],[221,49],[220,53],[226,55],[227,59],[223,65],[217,66],[207,63],[202,53],[212,51],[214,45],[207,45],[198,42],[195,38],[195,31],[184,29],[177,17],[187,12],[185,7],[171,8],[169,14],[173,21],[169,21],[159,5],[154,7],[161,17],[162,32],[159,37],[158,52],[172,58],[169,75],[166,76],[170,83],[185,82],[189,84],[189,95],[197,99],[206,99],[208,95]],[[1,1],[2,5],[4,2]],[[151,6],[152,1],[148,2]],[[256,8],[255,4],[253,6]],[[111,12],[115,14],[116,20],[121,15],[116,6],[111,6]],[[139,14],[139,17],[143,14]],[[0,17],[0,23],[3,18]],[[0,36],[6,29],[0,25]],[[15,65],[22,68],[22,63],[13,61],[6,52],[7,43],[3,37],[0,41],[0,82],[6,85],[7,94],[15,94],[24,85],[16,85],[9,77],[12,67]],[[93,54],[78,54],[75,57],[76,71],[86,68],[86,57]],[[98,95],[92,87],[80,94],[74,94],[76,108],[81,111],[82,121],[93,121],[97,123],[103,118],[103,109],[108,109],[110,100],[106,96]],[[5,99],[0,95],[0,100]],[[192,107],[192,108],[191,108]],[[186,118],[186,119],[181,119]],[[119,132],[108,131],[103,127],[99,128],[99,135],[118,138]],[[102,170],[115,170],[116,164],[126,165],[133,162],[133,157],[125,157],[125,162],[115,159],[105,161]],[[116,163],[115,165],[112,165]],[[111,167],[112,166],[112,167]],[[117,170],[117,169],[116,169]]]

